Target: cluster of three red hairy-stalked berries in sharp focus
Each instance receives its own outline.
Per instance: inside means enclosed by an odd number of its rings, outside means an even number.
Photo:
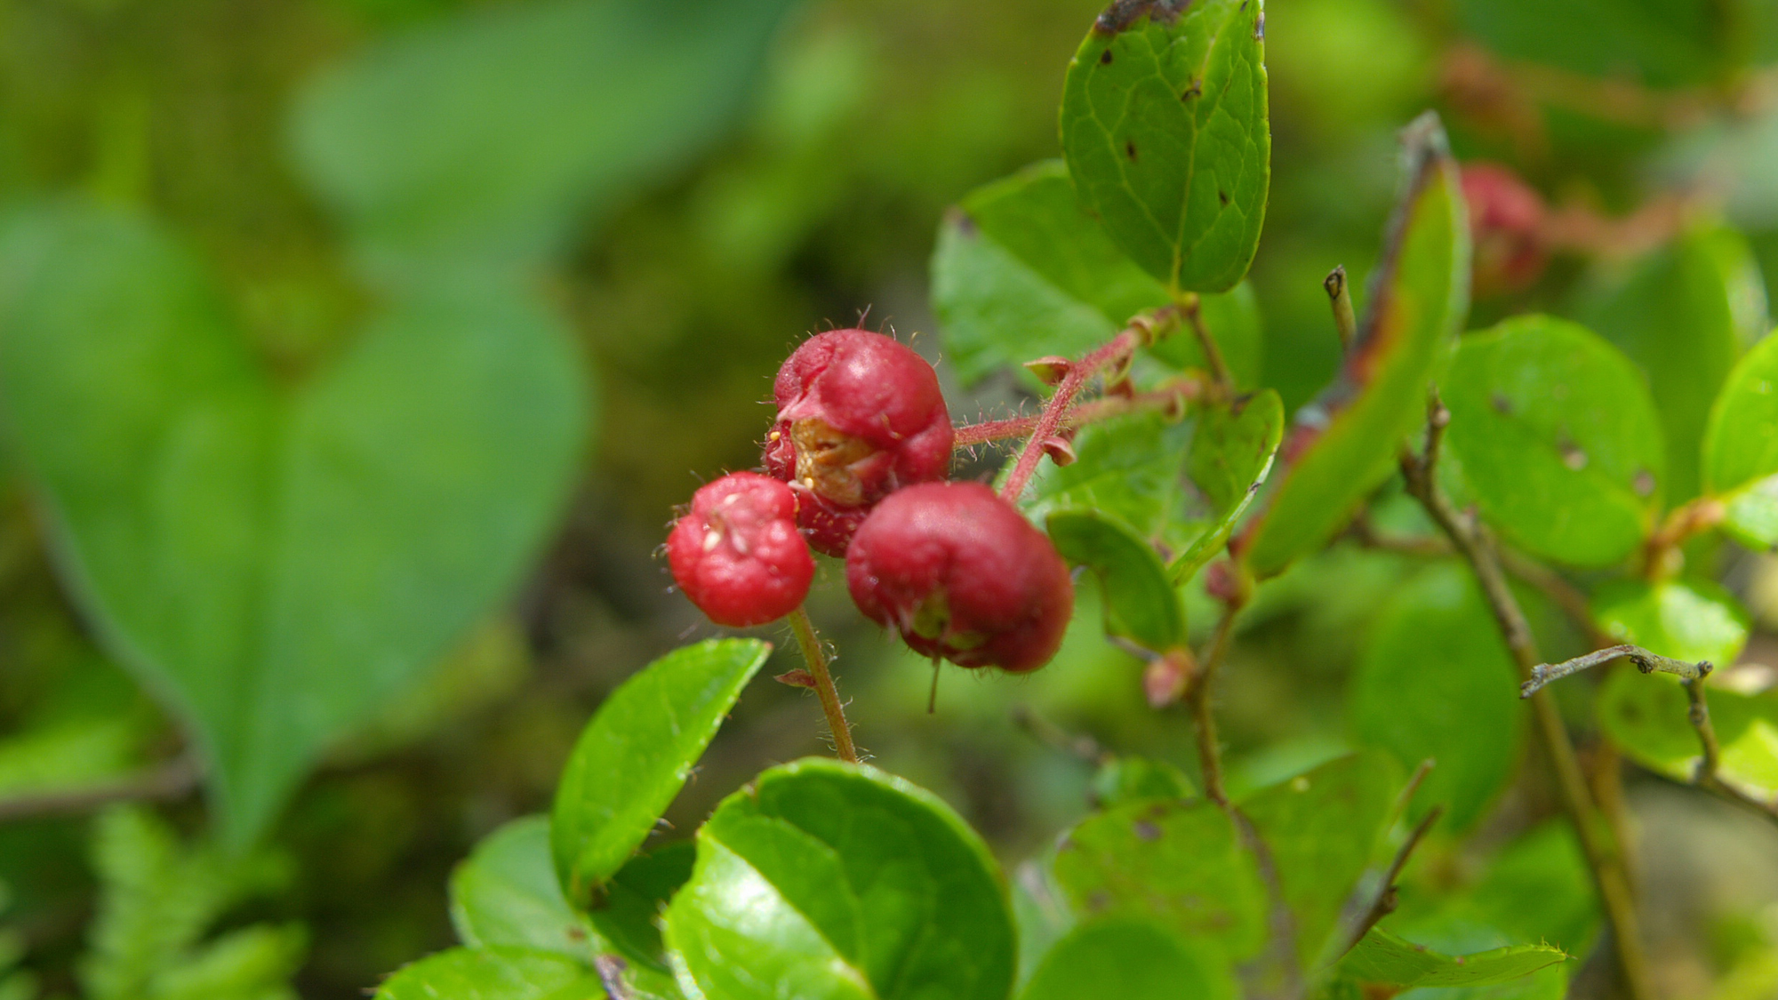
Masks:
[[[692,496],[667,557],[711,621],[750,626],[802,605],[813,546],[846,560],[869,619],[964,667],[1035,671],[1074,612],[1044,532],[978,482],[949,482],[955,432],[937,374],[880,333],[805,340],[773,383],[765,470]]]

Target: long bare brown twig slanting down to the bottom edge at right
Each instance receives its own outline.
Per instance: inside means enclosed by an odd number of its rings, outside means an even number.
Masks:
[[[1529,681],[1542,657],[1538,655],[1531,625],[1526,621],[1526,612],[1518,607],[1518,600],[1506,582],[1506,573],[1501,569],[1494,539],[1481,523],[1460,514],[1451,498],[1438,489],[1435,477],[1438,445],[1449,422],[1451,413],[1438,402],[1435,393],[1428,406],[1426,450],[1422,456],[1405,452],[1401,456],[1401,473],[1406,479],[1408,493],[1421,502],[1426,514],[1431,516],[1438,530],[1451,539],[1458,555],[1476,573],[1476,582],[1488,600],[1488,610],[1494,612],[1495,625],[1506,639],[1506,648],[1518,664],[1520,680]],[[1563,724],[1561,714],[1556,710],[1556,703],[1549,692],[1533,692],[1531,708],[1538,742],[1554,770],[1563,810],[1568,813],[1568,822],[1581,842],[1581,852],[1586,856],[1588,870],[1598,890],[1606,922],[1611,925],[1611,940],[1616,945],[1625,991],[1630,1000],[1650,1000],[1654,989],[1650,988],[1648,959],[1643,952],[1636,900],[1630,893],[1630,877],[1620,847],[1611,842],[1609,826],[1598,822],[1598,810],[1586,786],[1586,774],[1581,770],[1574,742],[1568,738],[1568,728]]]

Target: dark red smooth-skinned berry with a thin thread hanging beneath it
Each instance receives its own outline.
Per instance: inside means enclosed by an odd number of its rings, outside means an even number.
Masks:
[[[1049,536],[980,482],[889,495],[852,537],[846,587],[910,648],[962,667],[1035,671],[1074,614],[1069,566]]]

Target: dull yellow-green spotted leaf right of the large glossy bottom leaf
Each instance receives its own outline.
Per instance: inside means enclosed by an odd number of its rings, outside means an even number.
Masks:
[[[1266,938],[1259,868],[1209,802],[1129,802],[1088,817],[1063,836],[1054,875],[1081,918],[1152,918],[1230,961]]]

